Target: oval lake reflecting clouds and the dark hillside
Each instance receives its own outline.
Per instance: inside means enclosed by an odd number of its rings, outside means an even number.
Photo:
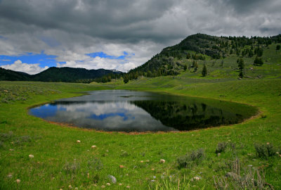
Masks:
[[[107,132],[188,131],[232,125],[256,115],[241,103],[129,90],[91,91],[30,109],[51,122]]]

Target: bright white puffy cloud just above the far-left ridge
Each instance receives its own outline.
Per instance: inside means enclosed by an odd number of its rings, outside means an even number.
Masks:
[[[22,63],[22,61],[20,60],[17,60],[11,65],[2,65],[1,68],[26,72],[30,75],[34,75],[39,72],[42,72],[43,70],[46,70],[48,66],[45,66],[44,68],[40,68],[39,63],[27,64],[27,63]]]

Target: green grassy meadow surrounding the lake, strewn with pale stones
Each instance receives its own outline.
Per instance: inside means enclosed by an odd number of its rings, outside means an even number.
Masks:
[[[0,189],[216,189],[226,184],[226,189],[245,189],[239,180],[225,177],[234,170],[236,159],[245,180],[259,170],[264,188],[281,189],[281,157],[274,153],[262,158],[255,149],[255,144],[269,143],[274,152],[281,153],[281,80],[183,75],[143,77],[118,85],[0,82]],[[237,125],[145,134],[96,132],[28,114],[31,106],[100,89],[165,91],[235,101],[256,106],[260,113]],[[222,142],[226,148],[216,153]],[[200,148],[203,156],[185,156]],[[188,160],[185,167],[177,161],[180,156]],[[108,175],[116,177],[117,183]],[[259,175],[254,173],[254,179],[261,181]]]

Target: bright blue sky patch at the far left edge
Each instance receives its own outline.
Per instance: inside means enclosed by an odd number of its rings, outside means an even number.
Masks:
[[[53,67],[57,65],[57,61],[55,61],[55,58],[57,58],[57,56],[46,55],[44,51],[41,51],[41,53],[39,54],[27,52],[19,56],[0,55],[0,65],[10,65],[15,61],[20,60],[22,61],[22,63],[28,64],[39,63],[39,66],[41,68],[44,68],[45,66]]]

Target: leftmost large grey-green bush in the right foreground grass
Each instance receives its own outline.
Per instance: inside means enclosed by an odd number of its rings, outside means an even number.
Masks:
[[[199,160],[204,158],[204,150],[202,148],[197,151],[192,151],[190,154],[185,154],[177,158],[178,167],[190,167],[193,163],[198,163]]]

